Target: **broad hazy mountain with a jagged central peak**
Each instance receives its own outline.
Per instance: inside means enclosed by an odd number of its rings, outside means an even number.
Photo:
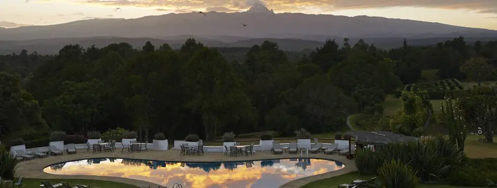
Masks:
[[[242,24],[246,24],[243,26]],[[0,40],[33,40],[119,36],[163,39],[194,35],[230,43],[247,38],[296,38],[324,41],[327,38],[440,38],[496,37],[497,31],[453,26],[441,23],[369,16],[335,16],[302,13],[278,13],[261,4],[247,12],[197,12],[146,16],[136,19],[93,19],[46,26],[0,29]],[[243,38],[246,37],[246,38]],[[229,39],[228,39],[229,38]]]

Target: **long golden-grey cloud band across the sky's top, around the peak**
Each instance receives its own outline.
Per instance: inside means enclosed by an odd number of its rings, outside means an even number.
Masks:
[[[305,7],[323,11],[386,7],[422,7],[438,9],[475,10],[497,14],[497,0],[85,0],[87,4],[134,7],[182,7],[188,10],[224,7],[229,10],[246,9],[260,3],[277,12],[300,12]]]

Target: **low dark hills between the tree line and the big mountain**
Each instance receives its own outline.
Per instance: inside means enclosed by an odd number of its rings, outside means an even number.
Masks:
[[[0,41],[0,54],[11,54],[19,53],[22,49],[26,49],[29,52],[36,51],[39,54],[57,54],[59,50],[65,45],[69,44],[79,44],[84,48],[95,45],[96,47],[105,47],[113,43],[129,43],[136,49],[141,49],[147,41],[150,41],[154,46],[158,47],[164,43],[169,44],[171,48],[178,49],[185,43],[186,39],[193,37],[199,42],[202,42],[208,47],[252,47],[254,45],[260,45],[264,41],[271,41],[277,43],[279,48],[283,51],[294,51],[301,52],[306,51],[308,54],[309,50],[314,50],[316,47],[321,47],[325,44],[323,41],[311,41],[302,39],[274,39],[274,38],[256,38],[256,39],[243,39],[234,42],[223,42],[236,40],[236,37],[223,36],[212,37],[218,40],[210,39],[207,37],[196,37],[193,35],[182,35],[175,37],[167,37],[165,39],[153,39],[153,38],[124,38],[124,37],[85,37],[85,38],[59,38],[59,39],[38,39],[38,40],[25,40],[25,41]],[[407,39],[409,45],[413,46],[427,46],[435,45],[437,43],[445,42],[447,40],[452,40],[452,37],[442,37],[442,38],[430,38],[430,39]],[[343,43],[343,39],[336,39],[339,44]],[[353,45],[359,38],[351,38],[350,43]],[[366,43],[373,43],[378,48],[390,49],[398,48],[402,46],[404,41],[403,38],[364,38]],[[468,44],[472,44],[476,41],[486,42],[486,41],[497,41],[497,37],[470,37],[465,38]]]

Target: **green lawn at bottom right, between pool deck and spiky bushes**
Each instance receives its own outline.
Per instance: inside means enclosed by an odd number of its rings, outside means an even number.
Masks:
[[[301,186],[301,188],[328,188],[328,187],[338,187],[338,185],[344,183],[350,183],[356,179],[370,179],[373,176],[359,175],[357,172],[350,172],[340,176],[335,176],[331,178],[326,178],[322,180],[313,181]],[[418,184],[418,188],[472,188],[463,186],[451,186],[451,185],[432,185],[432,184]]]

